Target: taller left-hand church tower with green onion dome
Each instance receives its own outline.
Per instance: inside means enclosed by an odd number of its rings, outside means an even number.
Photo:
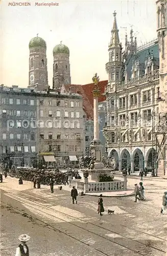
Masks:
[[[41,38],[32,38],[29,42],[29,86],[39,91],[47,90],[46,42]]]

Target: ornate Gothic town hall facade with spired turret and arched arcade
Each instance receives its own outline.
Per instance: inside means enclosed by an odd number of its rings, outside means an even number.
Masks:
[[[115,168],[131,167],[131,172],[157,168],[155,132],[159,120],[159,41],[137,48],[137,39],[126,35],[125,51],[119,39],[114,15],[109,61],[106,123],[103,134],[108,156]],[[163,21],[163,18],[161,19]],[[156,165],[156,166],[155,166]]]

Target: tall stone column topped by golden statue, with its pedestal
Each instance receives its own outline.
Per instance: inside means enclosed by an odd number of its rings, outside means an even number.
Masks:
[[[103,145],[99,139],[99,108],[98,108],[98,98],[100,96],[99,90],[99,76],[96,73],[92,81],[94,83],[93,90],[93,125],[94,125],[94,139],[90,143],[91,156],[96,158],[94,163],[94,169],[103,169],[104,164],[102,163],[102,148]]]

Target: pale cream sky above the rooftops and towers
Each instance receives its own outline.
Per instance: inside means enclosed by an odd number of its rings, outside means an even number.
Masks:
[[[26,2],[22,0],[20,2]],[[52,88],[53,48],[62,40],[70,50],[71,83],[92,82],[94,73],[107,80],[108,43],[113,12],[116,11],[120,40],[128,37],[133,25],[138,46],[157,37],[155,0],[49,1],[59,6],[8,6],[1,1],[1,73],[0,84],[27,87],[29,82],[29,41],[38,33],[47,44],[47,69]],[[18,2],[18,1],[17,1]],[[12,1],[11,1],[12,3]],[[52,31],[51,31],[52,30]]]

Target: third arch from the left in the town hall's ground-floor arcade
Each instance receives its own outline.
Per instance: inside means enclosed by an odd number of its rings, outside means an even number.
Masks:
[[[132,160],[134,163],[134,172],[139,172],[140,169],[144,170],[144,154],[139,148],[132,154]]]

